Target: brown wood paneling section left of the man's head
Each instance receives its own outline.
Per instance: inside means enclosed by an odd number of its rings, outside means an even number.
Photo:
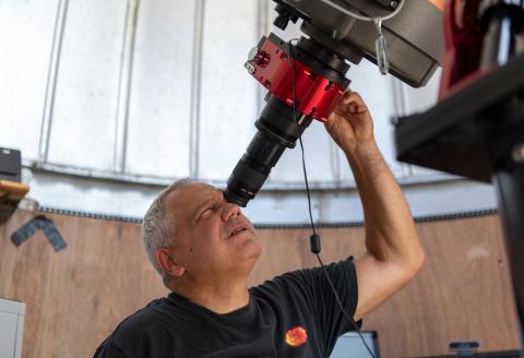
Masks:
[[[16,248],[10,235],[31,217],[0,226],[0,296],[27,305],[23,357],[91,357],[122,318],[166,295],[138,224],[48,215],[68,247],[55,252],[39,231]]]

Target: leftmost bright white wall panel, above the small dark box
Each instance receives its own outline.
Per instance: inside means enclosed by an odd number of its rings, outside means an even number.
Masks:
[[[58,0],[0,1],[0,146],[38,157]]]

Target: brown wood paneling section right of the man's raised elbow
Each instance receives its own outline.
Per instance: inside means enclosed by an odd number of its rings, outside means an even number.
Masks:
[[[419,275],[369,314],[388,357],[448,353],[451,341],[481,350],[520,347],[516,311],[498,216],[417,225],[426,250]]]

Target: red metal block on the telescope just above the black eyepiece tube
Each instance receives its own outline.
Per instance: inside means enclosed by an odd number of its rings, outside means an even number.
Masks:
[[[283,44],[285,43],[281,41],[279,45]],[[327,120],[327,116],[346,91],[296,58],[290,59],[289,53],[269,38],[265,38],[252,59],[248,60],[246,68],[272,95],[289,106],[293,106],[296,92],[297,110],[321,122]]]

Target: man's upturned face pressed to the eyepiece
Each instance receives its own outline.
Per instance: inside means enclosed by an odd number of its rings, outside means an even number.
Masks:
[[[222,191],[193,182],[169,193],[165,205],[175,223],[174,259],[192,279],[249,275],[262,250],[260,239]]]

